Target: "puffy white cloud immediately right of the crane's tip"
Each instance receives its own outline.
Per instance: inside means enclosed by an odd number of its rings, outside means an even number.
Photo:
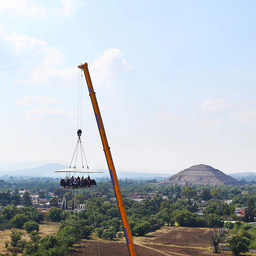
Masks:
[[[132,67],[124,59],[124,54],[119,49],[108,49],[104,51],[90,67],[93,84],[112,84],[113,79],[123,74]]]

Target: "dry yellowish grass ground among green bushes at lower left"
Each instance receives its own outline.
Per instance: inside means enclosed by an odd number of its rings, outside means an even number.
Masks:
[[[44,237],[46,235],[55,235],[59,230],[60,223],[52,222],[52,221],[44,221],[42,224],[39,224],[39,235]],[[22,239],[29,240],[29,235],[24,229],[19,229],[24,233]],[[7,252],[4,241],[10,241],[11,230],[7,229],[4,231],[0,231],[0,254],[4,254]]]

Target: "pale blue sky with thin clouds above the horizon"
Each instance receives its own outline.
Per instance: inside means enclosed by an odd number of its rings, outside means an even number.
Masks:
[[[70,164],[87,62],[117,170],[254,172],[255,7],[0,0],[0,163]],[[85,154],[107,169],[83,85]]]

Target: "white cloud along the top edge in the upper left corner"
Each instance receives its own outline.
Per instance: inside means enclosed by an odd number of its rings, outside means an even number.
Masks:
[[[35,4],[32,0],[0,0],[0,12],[12,13],[17,16],[45,17],[58,15],[74,15],[76,9],[83,5],[80,0],[62,0],[57,8],[45,8],[41,3]],[[49,6],[49,4],[48,4]]]

